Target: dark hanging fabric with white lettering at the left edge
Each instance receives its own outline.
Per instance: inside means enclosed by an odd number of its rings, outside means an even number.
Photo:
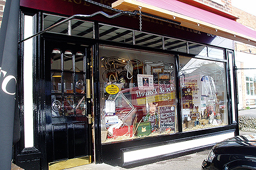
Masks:
[[[11,169],[19,0],[7,0],[0,30],[0,169]]]

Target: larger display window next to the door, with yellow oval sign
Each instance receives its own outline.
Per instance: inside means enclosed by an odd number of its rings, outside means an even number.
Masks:
[[[177,131],[174,55],[100,46],[101,141]]]

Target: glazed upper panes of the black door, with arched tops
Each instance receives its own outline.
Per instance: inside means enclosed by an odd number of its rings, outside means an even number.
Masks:
[[[71,50],[63,53],[54,48],[51,52],[53,117],[86,115],[85,83],[83,53],[78,51],[74,55]],[[61,94],[54,95],[56,93]]]

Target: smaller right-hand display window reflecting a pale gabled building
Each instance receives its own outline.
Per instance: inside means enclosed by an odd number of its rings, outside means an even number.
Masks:
[[[228,123],[224,62],[180,57],[183,131]]]

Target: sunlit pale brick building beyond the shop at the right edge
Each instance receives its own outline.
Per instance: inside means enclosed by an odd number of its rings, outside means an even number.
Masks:
[[[256,30],[256,16],[233,7],[233,15],[238,16],[237,22]],[[256,46],[238,41],[234,42],[236,65],[238,74],[239,109],[256,107]]]

